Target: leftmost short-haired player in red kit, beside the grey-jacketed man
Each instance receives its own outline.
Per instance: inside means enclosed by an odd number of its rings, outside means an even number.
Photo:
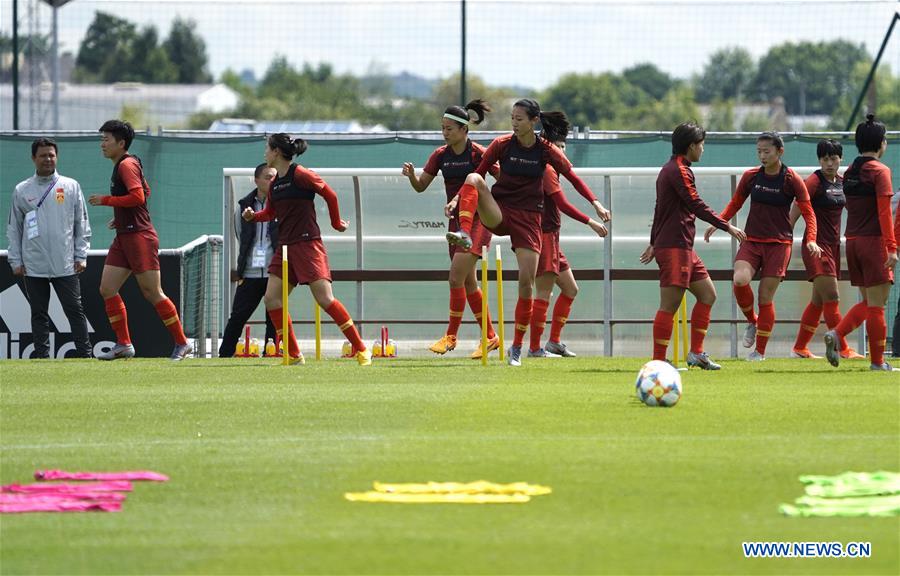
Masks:
[[[100,127],[100,133],[100,151],[113,163],[110,194],[94,194],[88,202],[92,206],[113,207],[111,225],[116,229],[116,237],[106,255],[100,278],[100,295],[106,303],[109,324],[116,333],[116,345],[98,354],[97,358],[116,360],[134,356],[134,346],[128,332],[128,314],[125,302],[119,296],[122,284],[134,274],[141,294],[156,308],[156,313],[175,340],[170,359],[176,362],[183,360],[193,352],[193,346],[184,336],[175,304],[165,295],[160,283],[159,237],[147,209],[150,185],[144,178],[140,158],[128,153],[134,140],[134,129],[128,122],[109,120]]]

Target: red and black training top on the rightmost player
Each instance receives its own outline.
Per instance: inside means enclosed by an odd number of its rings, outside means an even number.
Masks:
[[[844,172],[847,238],[881,236],[888,252],[897,249],[891,222],[891,169],[872,156],[859,156]]]

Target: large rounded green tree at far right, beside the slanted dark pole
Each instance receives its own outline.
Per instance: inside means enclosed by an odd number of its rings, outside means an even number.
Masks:
[[[789,114],[831,114],[853,91],[847,71],[859,62],[871,62],[862,44],[787,42],[762,57],[755,84],[765,100],[783,96]]]

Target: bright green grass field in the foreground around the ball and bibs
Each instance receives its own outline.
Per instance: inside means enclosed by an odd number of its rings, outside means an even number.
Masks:
[[[163,472],[120,513],[5,515],[4,574],[897,574],[900,518],[779,515],[802,474],[900,470],[900,378],[724,362],[672,409],[640,359],[0,363],[4,484]],[[527,481],[527,504],[351,503],[373,481]],[[871,542],[746,559],[744,541]]]

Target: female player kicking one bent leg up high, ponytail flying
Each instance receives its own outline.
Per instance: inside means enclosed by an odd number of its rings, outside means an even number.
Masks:
[[[447,232],[447,241],[472,248],[472,225],[475,213],[492,233],[510,236],[519,266],[519,301],[516,304],[515,336],[509,348],[510,366],[522,364],[522,340],[531,323],[534,278],[541,252],[541,214],[544,211],[544,168],[549,164],[565,176],[575,189],[590,198],[587,184],[572,170],[572,164],[551,142],[569,131],[569,121],[562,112],[542,112],[531,99],[513,105],[513,133],[497,138],[484,153],[481,164],[466,177],[459,190],[459,231]],[[540,122],[548,136],[538,137],[534,127]],[[497,182],[488,188],[484,175],[495,162],[500,162]]]

